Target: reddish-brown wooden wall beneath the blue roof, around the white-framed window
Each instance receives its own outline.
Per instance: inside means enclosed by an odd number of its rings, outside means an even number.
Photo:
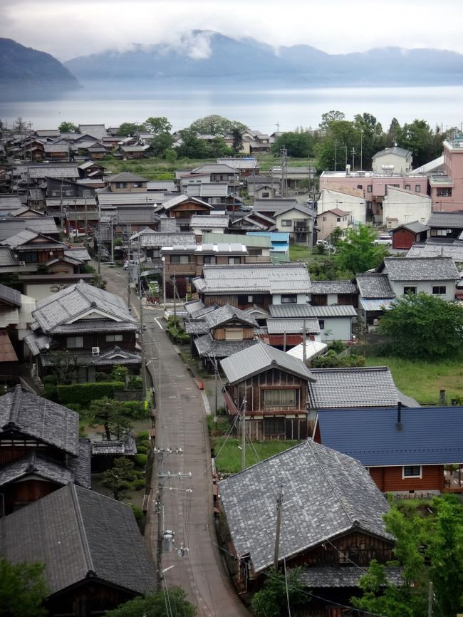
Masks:
[[[444,466],[423,465],[421,478],[402,478],[402,467],[370,467],[370,475],[383,492],[443,491]]]

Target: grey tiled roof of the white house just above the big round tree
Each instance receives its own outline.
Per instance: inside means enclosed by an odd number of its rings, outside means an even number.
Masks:
[[[386,257],[390,281],[457,281],[459,273],[450,257]]]

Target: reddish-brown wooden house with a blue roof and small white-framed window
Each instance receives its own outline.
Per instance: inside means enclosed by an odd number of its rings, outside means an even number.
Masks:
[[[463,408],[318,409],[314,439],[355,457],[383,492],[428,497],[463,492]],[[446,484],[446,477],[448,482]]]

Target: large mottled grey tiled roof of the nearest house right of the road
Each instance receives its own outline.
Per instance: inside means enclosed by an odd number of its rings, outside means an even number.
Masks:
[[[280,560],[350,530],[392,541],[387,501],[363,465],[306,440],[219,483],[236,553],[249,554],[255,571],[274,559],[281,484]]]

